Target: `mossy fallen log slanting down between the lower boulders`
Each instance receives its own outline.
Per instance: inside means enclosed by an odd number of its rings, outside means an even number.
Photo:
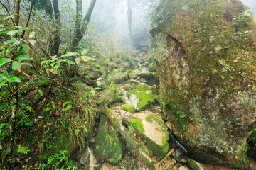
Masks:
[[[127,143],[127,147],[130,148],[132,154],[137,155],[139,159],[146,164],[149,169],[158,170],[159,168],[152,162],[149,157],[149,149],[146,148],[144,144],[138,143],[134,137],[132,137],[131,132],[119,122],[117,117],[110,111],[110,108],[105,106],[105,115],[110,120],[110,123],[114,125],[114,129],[118,130],[120,135],[124,138]]]

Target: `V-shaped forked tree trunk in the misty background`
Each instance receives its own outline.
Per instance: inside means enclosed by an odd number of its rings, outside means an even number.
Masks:
[[[82,19],[82,0],[75,0],[76,2],[76,16],[75,16],[75,31],[72,40],[72,49],[78,48],[79,41],[85,35],[88,23],[92,16],[93,8],[95,7],[97,0],[91,0],[90,6],[87,10],[85,17]]]

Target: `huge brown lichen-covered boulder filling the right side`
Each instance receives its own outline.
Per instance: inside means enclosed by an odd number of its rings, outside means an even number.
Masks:
[[[160,0],[151,27],[164,113],[201,162],[247,168],[256,127],[255,21],[238,0]]]

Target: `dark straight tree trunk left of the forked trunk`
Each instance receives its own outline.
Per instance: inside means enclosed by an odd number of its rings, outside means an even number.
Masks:
[[[53,0],[53,10],[55,14],[55,33],[54,33],[54,38],[52,40],[53,42],[53,47],[50,50],[50,55],[58,55],[58,51],[60,48],[60,28],[61,28],[61,23],[60,23],[60,10],[58,7],[58,0]]]

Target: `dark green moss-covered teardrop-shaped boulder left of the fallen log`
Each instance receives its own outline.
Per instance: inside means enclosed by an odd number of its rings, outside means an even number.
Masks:
[[[108,123],[105,116],[100,118],[94,152],[97,158],[109,162],[112,166],[116,166],[122,160],[124,154],[124,145],[118,134],[110,127],[110,123]]]

